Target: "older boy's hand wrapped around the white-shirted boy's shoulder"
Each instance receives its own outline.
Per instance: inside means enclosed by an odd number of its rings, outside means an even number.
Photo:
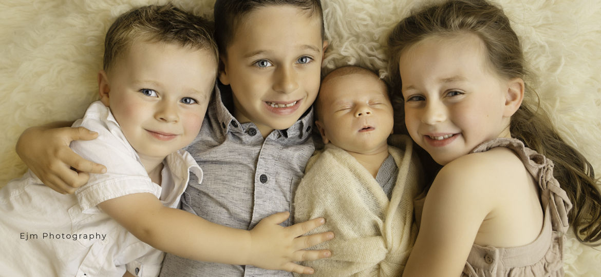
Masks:
[[[104,165],[88,161],[69,148],[73,140],[92,140],[97,137],[97,133],[84,127],[68,127],[72,123],[53,122],[30,127],[23,131],[16,145],[17,154],[35,176],[44,185],[62,194],[73,193],[87,183],[88,173],[106,171]]]

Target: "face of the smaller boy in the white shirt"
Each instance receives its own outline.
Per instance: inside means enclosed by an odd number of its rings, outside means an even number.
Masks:
[[[163,159],[200,131],[216,76],[209,50],[133,43],[105,75],[101,101],[142,159]]]

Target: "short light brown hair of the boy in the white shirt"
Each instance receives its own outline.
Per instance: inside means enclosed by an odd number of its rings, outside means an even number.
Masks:
[[[138,40],[174,43],[190,49],[207,49],[219,55],[213,39],[213,24],[200,16],[182,11],[172,4],[148,5],[121,14],[105,37],[103,68],[108,71]]]

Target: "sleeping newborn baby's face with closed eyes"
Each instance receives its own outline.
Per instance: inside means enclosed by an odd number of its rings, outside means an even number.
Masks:
[[[322,83],[319,101],[324,143],[364,155],[388,147],[393,111],[382,80],[366,73],[333,77]]]

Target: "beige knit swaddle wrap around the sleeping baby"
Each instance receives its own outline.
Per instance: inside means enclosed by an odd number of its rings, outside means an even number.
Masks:
[[[421,191],[421,170],[407,136],[394,136],[388,152],[398,167],[391,200],[376,179],[345,150],[326,144],[307,164],[294,198],[296,222],[323,216],[311,233],[335,238],[313,249],[332,257],[303,264],[313,276],[400,276],[417,234],[413,198]]]

